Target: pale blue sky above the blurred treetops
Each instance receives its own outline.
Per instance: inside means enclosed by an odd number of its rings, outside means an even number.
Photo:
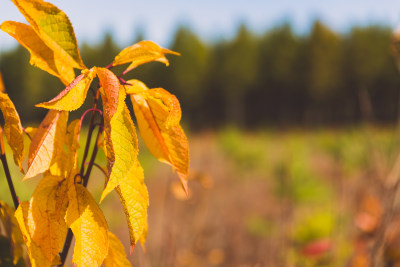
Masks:
[[[0,0],[0,22],[23,22],[9,0]],[[146,39],[167,46],[179,24],[189,25],[204,39],[228,37],[237,25],[246,22],[262,32],[289,21],[299,32],[306,32],[314,19],[321,19],[337,31],[351,25],[381,23],[400,25],[398,0],[53,0],[70,17],[78,41],[96,42],[105,30],[122,44],[134,39],[142,28]],[[111,4],[112,3],[112,4]],[[0,51],[15,41],[0,33]]]

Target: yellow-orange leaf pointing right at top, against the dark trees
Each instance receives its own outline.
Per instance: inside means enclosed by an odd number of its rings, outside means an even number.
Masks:
[[[179,53],[172,50],[162,48],[156,43],[151,41],[140,41],[132,46],[123,49],[114,59],[113,66],[131,63],[125,70],[125,73],[136,68],[139,65],[159,61],[165,65],[169,65],[168,59],[165,54],[179,55]]]

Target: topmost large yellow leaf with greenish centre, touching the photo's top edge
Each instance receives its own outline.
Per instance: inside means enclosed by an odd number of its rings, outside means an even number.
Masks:
[[[74,29],[67,15],[42,0],[12,0],[54,56],[73,68],[85,69]]]

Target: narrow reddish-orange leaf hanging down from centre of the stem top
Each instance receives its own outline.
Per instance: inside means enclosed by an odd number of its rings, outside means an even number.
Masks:
[[[117,112],[120,83],[115,74],[108,69],[96,68],[96,72],[100,80],[100,86],[103,88],[104,92],[102,95],[104,115],[111,119],[115,112]]]

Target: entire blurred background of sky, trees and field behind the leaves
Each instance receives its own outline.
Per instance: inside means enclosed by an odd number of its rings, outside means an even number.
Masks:
[[[135,266],[400,264],[399,2],[53,3],[88,67],[143,39],[182,54],[127,75],[178,97],[191,154],[185,199],[141,145],[150,227],[146,249],[129,256]],[[11,1],[1,2],[5,20],[24,21]],[[34,104],[63,89],[5,33],[0,71],[25,127],[45,114]],[[39,178],[21,183],[13,173],[29,199]],[[3,178],[0,197],[11,203]],[[103,184],[95,171],[97,199]],[[117,196],[101,206],[128,251]]]

